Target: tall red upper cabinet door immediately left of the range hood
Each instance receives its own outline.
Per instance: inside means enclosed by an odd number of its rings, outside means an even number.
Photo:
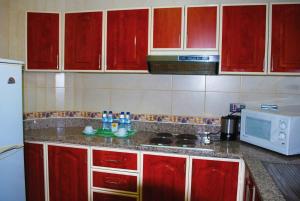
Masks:
[[[107,70],[147,70],[149,9],[107,11]]]

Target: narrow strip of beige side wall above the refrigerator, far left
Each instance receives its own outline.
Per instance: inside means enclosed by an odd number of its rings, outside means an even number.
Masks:
[[[8,57],[9,1],[0,0],[0,58]]]

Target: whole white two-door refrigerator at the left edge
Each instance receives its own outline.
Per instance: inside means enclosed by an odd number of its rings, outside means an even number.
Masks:
[[[22,62],[0,58],[0,201],[25,201]]]

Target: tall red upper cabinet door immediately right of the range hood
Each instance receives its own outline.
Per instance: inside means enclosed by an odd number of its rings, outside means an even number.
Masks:
[[[267,5],[222,6],[222,73],[264,74]]]

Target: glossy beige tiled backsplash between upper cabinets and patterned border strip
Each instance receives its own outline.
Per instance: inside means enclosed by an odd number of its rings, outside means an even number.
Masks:
[[[300,105],[300,77],[24,73],[24,112],[220,116],[231,102]]]

